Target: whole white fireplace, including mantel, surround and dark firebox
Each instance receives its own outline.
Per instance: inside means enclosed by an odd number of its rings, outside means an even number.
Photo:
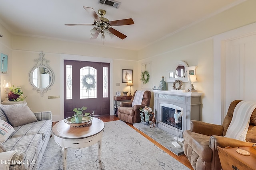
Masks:
[[[169,133],[183,137],[183,132],[190,127],[190,120],[201,120],[201,96],[203,93],[153,90],[156,125]],[[174,123],[174,113],[183,109],[183,116]]]

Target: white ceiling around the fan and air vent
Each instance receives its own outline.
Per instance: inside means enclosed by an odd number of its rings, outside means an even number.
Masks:
[[[106,10],[108,20],[132,18],[134,25],[114,26],[125,39],[106,36],[104,46],[139,50],[197,21],[222,12],[244,0],[116,0],[118,9],[98,0],[0,0],[0,23],[12,34],[103,45],[100,36],[90,39],[93,23],[83,6]],[[0,32],[1,34],[1,32]],[[4,36],[4,35],[3,35]]]

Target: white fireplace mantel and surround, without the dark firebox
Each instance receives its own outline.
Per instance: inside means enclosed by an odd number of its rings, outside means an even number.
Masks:
[[[153,90],[154,92],[154,111],[156,117],[156,125],[169,133],[175,134],[175,127],[162,122],[161,106],[163,104],[172,104],[184,109],[182,116],[183,125],[179,132],[182,137],[184,130],[189,129],[190,120],[201,121],[201,96],[202,92],[185,92],[183,90]]]

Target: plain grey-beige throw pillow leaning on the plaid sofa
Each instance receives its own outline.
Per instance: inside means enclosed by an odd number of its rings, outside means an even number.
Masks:
[[[38,121],[27,104],[0,105],[14,127]]]

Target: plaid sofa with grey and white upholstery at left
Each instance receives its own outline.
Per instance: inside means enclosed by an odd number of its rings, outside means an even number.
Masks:
[[[10,170],[38,170],[52,132],[52,112],[34,113],[38,121],[14,127],[14,132],[2,143],[6,152],[19,150],[10,160]],[[0,119],[8,122],[0,108]],[[0,159],[4,152],[0,152]],[[25,164],[24,164],[25,162]]]

